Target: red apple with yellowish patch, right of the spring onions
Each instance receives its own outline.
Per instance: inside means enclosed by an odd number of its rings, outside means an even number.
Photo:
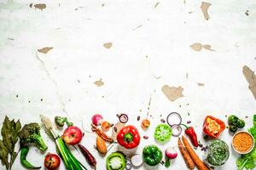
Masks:
[[[67,127],[62,135],[62,139],[67,144],[79,144],[79,142],[83,138],[83,133],[79,127],[76,126],[70,126]]]

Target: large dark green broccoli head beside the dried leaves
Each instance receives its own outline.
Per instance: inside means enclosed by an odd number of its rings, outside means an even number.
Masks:
[[[35,144],[39,150],[47,150],[47,145],[44,144],[44,140],[40,134],[40,126],[37,122],[24,125],[19,133],[19,137],[21,147],[28,144]]]

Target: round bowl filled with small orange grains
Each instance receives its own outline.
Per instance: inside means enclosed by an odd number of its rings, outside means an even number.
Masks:
[[[246,132],[236,133],[232,143],[236,150],[246,152],[252,148],[253,138]]]

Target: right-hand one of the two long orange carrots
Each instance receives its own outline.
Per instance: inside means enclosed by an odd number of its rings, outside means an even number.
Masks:
[[[210,170],[209,167],[207,167],[203,161],[196,155],[195,150],[192,149],[191,145],[189,144],[188,139],[186,139],[184,136],[182,137],[183,144],[188,150],[189,155],[191,156],[192,160],[195,162],[195,165],[198,167],[199,170]]]

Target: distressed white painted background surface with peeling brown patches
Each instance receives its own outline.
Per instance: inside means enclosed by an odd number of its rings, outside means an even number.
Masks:
[[[23,124],[39,122],[39,114],[53,119],[54,115],[65,116],[65,110],[80,126],[81,117],[89,122],[92,114],[101,113],[116,122],[115,115],[125,112],[130,123],[139,127],[136,118],[146,116],[151,94],[153,125],[141,133],[150,137],[143,140],[141,149],[154,144],[151,132],[160,115],[171,111],[180,112],[184,122],[191,120],[200,140],[207,115],[223,120],[229,114],[249,116],[246,128],[252,125],[256,104],[242,66],[256,69],[253,1],[207,1],[212,3],[210,20],[201,13],[201,1],[1,2],[0,120],[8,115]],[[30,3],[46,3],[47,8],[29,8]],[[104,48],[105,42],[113,42],[112,48]],[[216,51],[195,52],[189,48],[194,42],[211,44]],[[54,48],[48,54],[37,53],[44,47]],[[94,82],[100,78],[104,85],[96,87]],[[184,97],[170,102],[161,92],[165,84],[182,86]],[[54,143],[42,134],[48,151],[55,152]],[[220,139],[230,144],[231,136],[226,130]],[[106,157],[93,150],[95,140],[86,133],[82,144],[96,156],[97,169],[105,169]],[[176,144],[172,138],[160,147],[165,150]],[[231,153],[222,169],[236,169],[238,156]],[[32,149],[27,159],[41,165],[44,155]],[[84,161],[83,156],[79,159]],[[14,169],[22,168],[17,159]],[[183,158],[179,156],[171,168],[185,169]]]

